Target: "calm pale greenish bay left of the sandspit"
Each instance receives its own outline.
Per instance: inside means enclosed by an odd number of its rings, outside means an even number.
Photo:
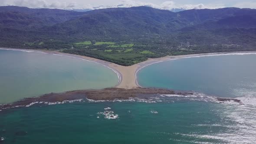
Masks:
[[[38,52],[0,50],[0,104],[50,92],[113,87],[118,77],[93,62]]]

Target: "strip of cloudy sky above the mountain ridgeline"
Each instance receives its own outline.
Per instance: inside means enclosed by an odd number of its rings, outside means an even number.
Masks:
[[[223,7],[256,9],[256,0],[0,0],[0,6],[10,5],[66,10],[138,6],[148,6],[162,10],[171,10],[174,8],[183,8],[185,10],[216,9]]]

